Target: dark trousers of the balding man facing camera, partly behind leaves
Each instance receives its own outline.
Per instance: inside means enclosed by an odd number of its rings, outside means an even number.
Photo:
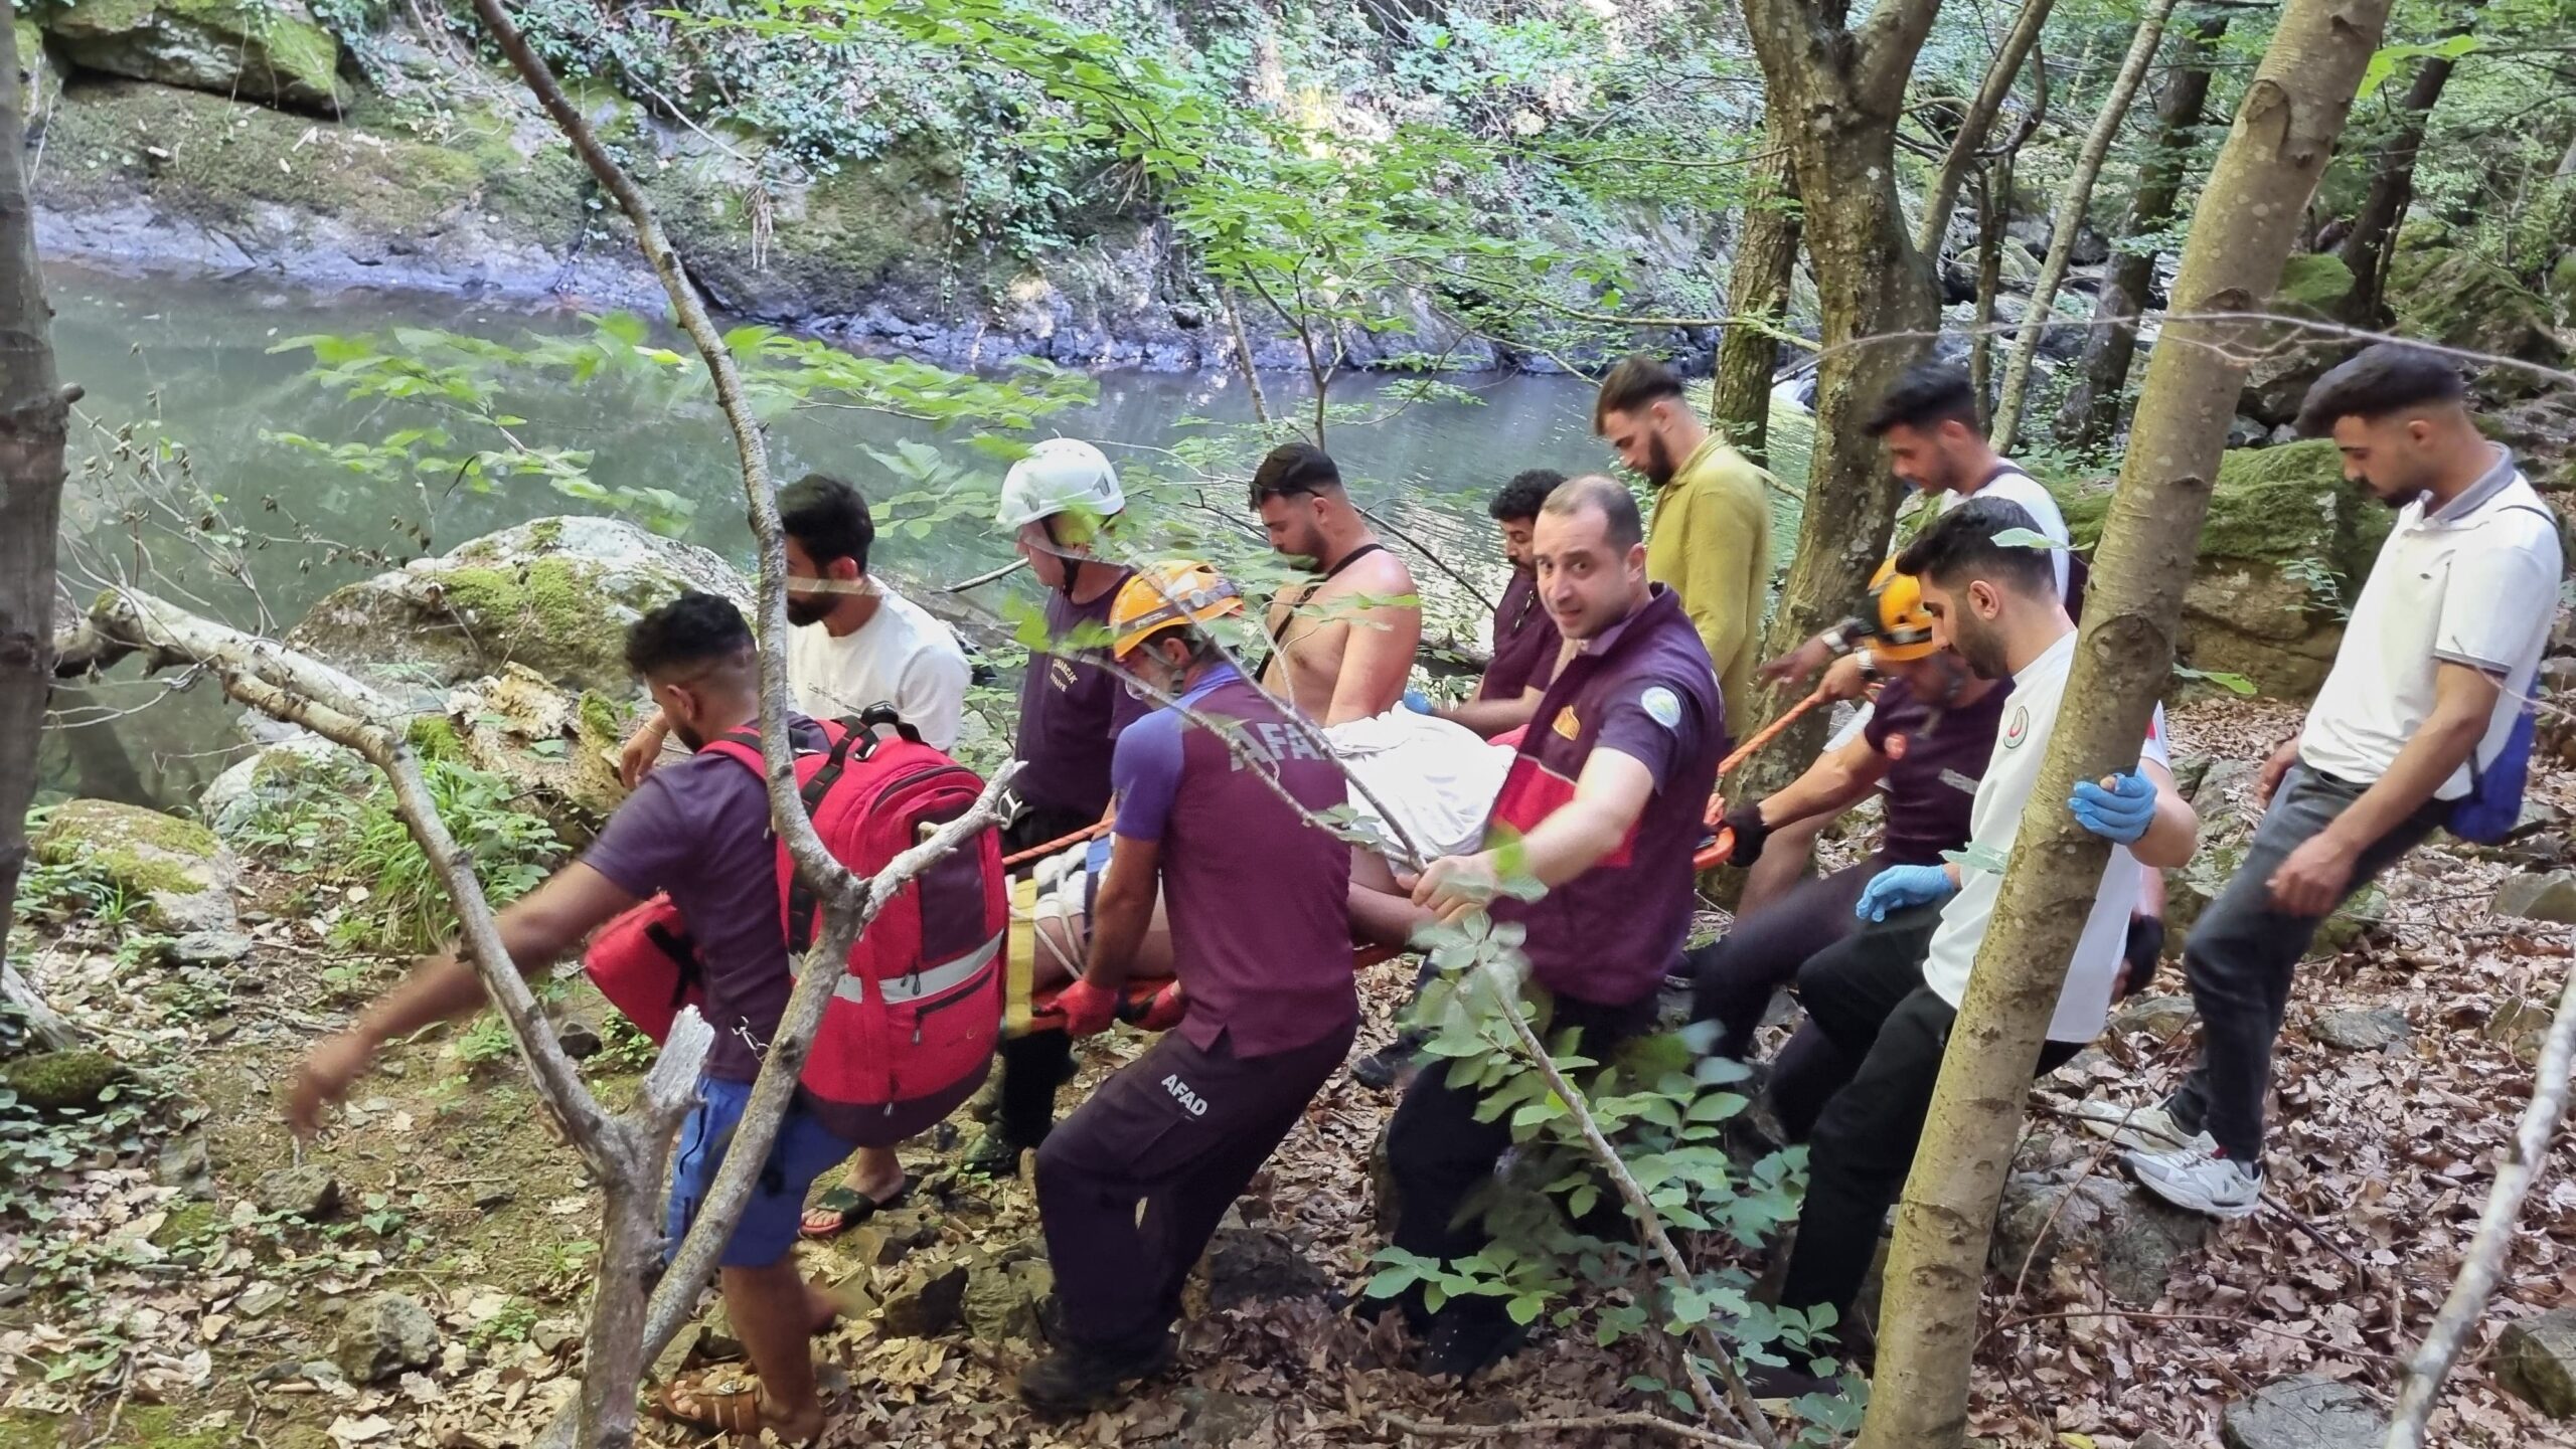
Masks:
[[[1654,1027],[1654,996],[1620,1006],[1577,1001],[1558,996],[1548,1019],[1548,1035],[1577,1029],[1574,1050],[1607,1060],[1610,1053]],[[1484,1094],[1450,1086],[1450,1063],[1425,1066],[1414,1084],[1404,1089],[1396,1117],[1386,1127],[1386,1166],[1396,1179],[1396,1230],[1394,1243],[1425,1259],[1463,1259],[1489,1243],[1484,1217],[1476,1210],[1476,1189],[1494,1179],[1494,1163],[1512,1145],[1512,1122],[1476,1120]],[[1427,1318],[1414,1297],[1406,1297],[1406,1315],[1414,1328],[1427,1328]],[[1502,1300],[1466,1297],[1450,1300],[1443,1313],[1502,1313]]]

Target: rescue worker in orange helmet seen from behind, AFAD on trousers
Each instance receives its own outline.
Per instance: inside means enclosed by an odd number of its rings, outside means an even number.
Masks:
[[[1190,1266],[1360,1027],[1350,844],[1316,821],[1347,800],[1342,767],[1203,633],[1242,607],[1213,569],[1177,564],[1110,610],[1118,667],[1177,703],[1118,736],[1090,960],[1056,1006],[1074,1037],[1108,1029],[1157,891],[1175,983],[1144,1019],[1167,1035],[1038,1148],[1056,1346],[1020,1398],[1048,1413],[1172,1361]]]

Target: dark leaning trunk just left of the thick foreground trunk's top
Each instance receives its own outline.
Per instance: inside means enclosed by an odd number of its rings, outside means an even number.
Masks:
[[[2210,100],[2210,51],[2226,31],[2226,13],[2213,13],[2182,33],[2174,82],[2156,100],[2156,144],[2138,167],[2138,190],[2123,226],[2130,242],[2164,232],[2174,219],[2182,180],[2192,172],[2192,131],[2200,129],[2200,111]],[[2128,365],[2138,358],[2136,322],[2154,291],[2156,252],[2125,247],[2110,260],[2094,304],[2094,329],[2084,340],[2084,363],[2058,412],[2061,445],[2099,448],[2120,430],[2120,391],[2128,389]]]

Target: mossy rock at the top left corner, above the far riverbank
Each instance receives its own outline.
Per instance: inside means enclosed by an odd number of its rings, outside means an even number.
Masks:
[[[340,108],[340,41],[286,0],[72,0],[46,21],[85,69],[304,111]]]

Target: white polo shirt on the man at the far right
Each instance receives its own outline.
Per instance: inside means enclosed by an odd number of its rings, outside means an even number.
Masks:
[[[2558,613],[2558,520],[2506,448],[2439,510],[2406,504],[2308,705],[2298,757],[2370,785],[2432,718],[2434,672],[2468,664],[2504,685],[2478,752],[2434,790],[2437,800],[2468,795],[2473,767],[2496,757],[2532,692]]]

